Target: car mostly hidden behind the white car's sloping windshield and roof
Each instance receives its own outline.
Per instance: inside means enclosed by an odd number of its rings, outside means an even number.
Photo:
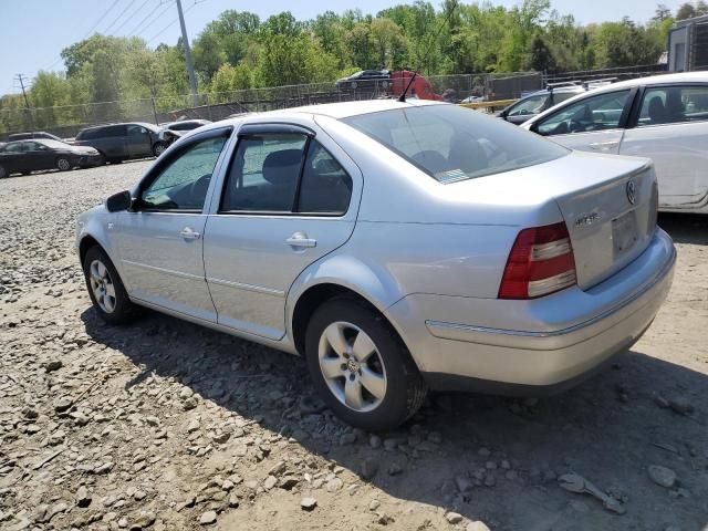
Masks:
[[[565,100],[570,100],[571,97],[584,94],[587,91],[608,85],[612,81],[614,80],[549,83],[544,90],[523,96],[518,102],[501,111],[497,116],[514,125],[521,125],[527,119],[538,116],[540,113],[564,102]]]

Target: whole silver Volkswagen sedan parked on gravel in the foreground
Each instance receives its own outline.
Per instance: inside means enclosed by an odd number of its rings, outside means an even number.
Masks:
[[[455,105],[225,121],[79,218],[97,313],[147,306],[305,357],[347,423],[426,389],[533,394],[649,326],[675,251],[647,159],[573,153]]]

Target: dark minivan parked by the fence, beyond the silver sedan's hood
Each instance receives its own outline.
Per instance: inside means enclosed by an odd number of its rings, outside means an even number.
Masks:
[[[142,122],[86,127],[79,132],[74,145],[96,148],[107,163],[157,157],[167,147],[159,139],[159,128]]]

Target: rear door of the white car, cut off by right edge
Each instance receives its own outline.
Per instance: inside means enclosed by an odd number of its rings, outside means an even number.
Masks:
[[[708,198],[708,84],[646,87],[629,125],[620,153],[654,160],[659,205],[704,205]]]

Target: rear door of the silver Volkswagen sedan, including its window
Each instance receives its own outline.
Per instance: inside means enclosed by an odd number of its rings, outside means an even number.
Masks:
[[[290,287],[348,239],[361,186],[356,165],[325,134],[279,124],[241,127],[204,243],[219,323],[282,337]]]

